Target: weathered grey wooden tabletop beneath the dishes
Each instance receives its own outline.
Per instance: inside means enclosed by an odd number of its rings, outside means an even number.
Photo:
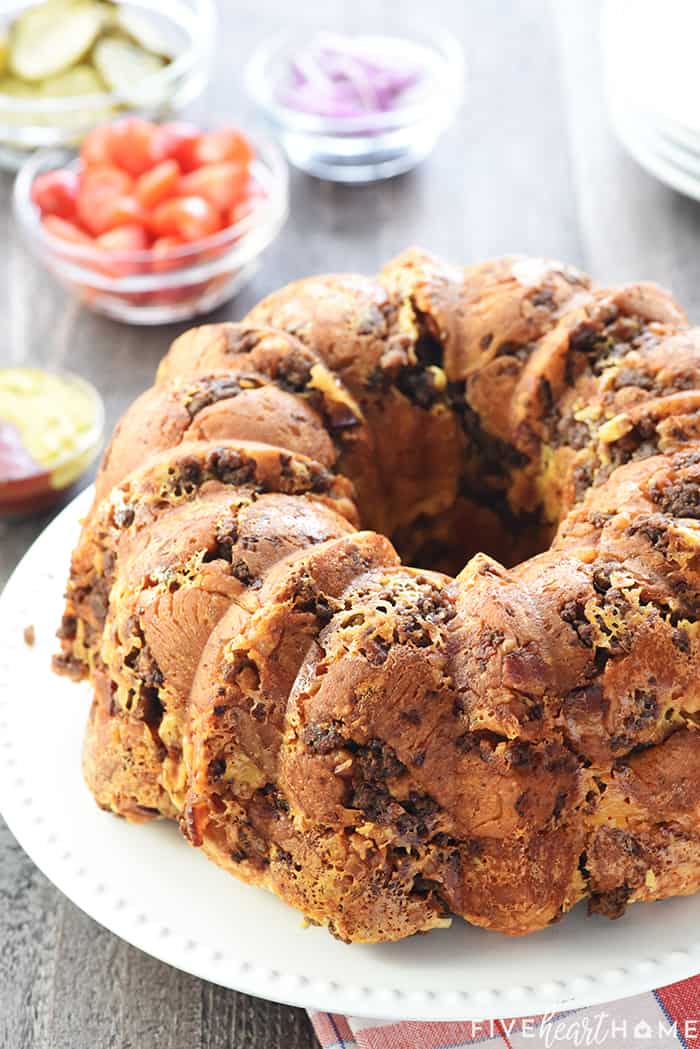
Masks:
[[[240,68],[280,21],[342,21],[342,0],[219,0],[216,67],[195,115],[255,117]],[[303,7],[302,14],[291,14]],[[396,24],[399,0],[354,0]],[[216,319],[307,274],[372,272],[409,244],[453,261],[506,252],[554,256],[599,281],[657,280],[700,318],[700,208],[629,159],[610,132],[598,4],[431,0],[462,40],[466,105],[417,171],[344,188],[298,173],[292,213],[253,283]],[[0,362],[65,366],[101,389],[111,427],[150,384],[182,327],[133,328],[93,316],[23,250],[0,179]],[[0,522],[0,583],[45,519]],[[0,799],[1,805],[1,799]],[[352,949],[352,948],[348,948]],[[0,820],[0,1045],[3,1049],[302,1049],[305,1014],[222,990],[128,946],[70,904]]]

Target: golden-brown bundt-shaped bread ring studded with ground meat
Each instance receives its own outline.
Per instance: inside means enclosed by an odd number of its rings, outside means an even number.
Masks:
[[[56,664],[103,808],[344,940],[521,935],[700,889],[699,619],[682,311],[408,252],[175,341]]]

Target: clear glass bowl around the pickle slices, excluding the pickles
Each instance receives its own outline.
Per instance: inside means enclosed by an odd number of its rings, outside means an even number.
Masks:
[[[0,0],[0,27],[35,6],[37,0]],[[213,0],[136,0],[124,4],[148,13],[175,58],[128,91],[63,98],[24,98],[0,91],[0,167],[17,170],[35,149],[76,145],[97,124],[124,112],[163,119],[182,110],[204,90],[215,41]]]

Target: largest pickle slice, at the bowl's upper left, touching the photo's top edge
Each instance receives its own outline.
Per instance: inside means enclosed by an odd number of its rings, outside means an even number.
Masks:
[[[65,72],[90,49],[103,21],[102,5],[90,0],[49,0],[29,8],[13,26],[9,68],[31,82]]]

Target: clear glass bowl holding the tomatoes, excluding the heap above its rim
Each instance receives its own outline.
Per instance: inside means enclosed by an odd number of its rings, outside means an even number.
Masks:
[[[91,309],[131,324],[188,320],[214,309],[248,283],[287,218],[284,157],[268,138],[246,135],[256,153],[251,175],[264,196],[235,226],[165,256],[150,249],[106,253],[44,229],[31,201],[34,179],[44,171],[77,166],[75,151],[40,152],[24,164],[15,180],[15,215],[36,257]]]

